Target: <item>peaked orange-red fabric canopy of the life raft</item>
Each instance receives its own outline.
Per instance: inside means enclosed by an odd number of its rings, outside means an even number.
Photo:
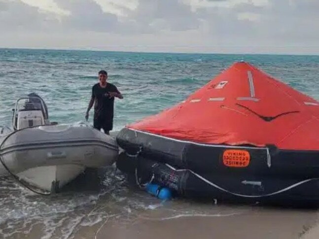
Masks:
[[[208,144],[319,150],[319,102],[239,62],[186,101],[127,127]]]

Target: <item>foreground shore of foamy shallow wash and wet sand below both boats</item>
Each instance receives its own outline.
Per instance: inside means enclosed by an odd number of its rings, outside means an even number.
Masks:
[[[107,173],[97,192],[32,195],[1,182],[0,238],[318,239],[319,210],[174,199],[161,202]],[[93,180],[93,179],[91,179]],[[87,180],[84,180],[87,181]],[[94,182],[94,185],[97,183]],[[72,188],[71,188],[72,189]],[[1,196],[1,195],[0,195]]]

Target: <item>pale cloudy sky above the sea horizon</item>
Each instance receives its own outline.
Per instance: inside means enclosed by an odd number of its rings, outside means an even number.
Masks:
[[[1,48],[319,54],[319,0],[0,0]]]

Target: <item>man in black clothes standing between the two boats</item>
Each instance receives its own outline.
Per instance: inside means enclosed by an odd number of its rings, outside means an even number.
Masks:
[[[94,103],[93,126],[97,130],[104,130],[106,135],[113,129],[114,97],[123,99],[116,86],[106,82],[107,72],[99,71],[99,83],[92,87],[92,97],[87,108],[85,119],[89,119],[89,111]]]

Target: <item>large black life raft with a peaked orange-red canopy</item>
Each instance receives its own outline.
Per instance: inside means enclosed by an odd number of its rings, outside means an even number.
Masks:
[[[319,102],[245,62],[128,125],[118,168],[214,199],[319,202]]]

